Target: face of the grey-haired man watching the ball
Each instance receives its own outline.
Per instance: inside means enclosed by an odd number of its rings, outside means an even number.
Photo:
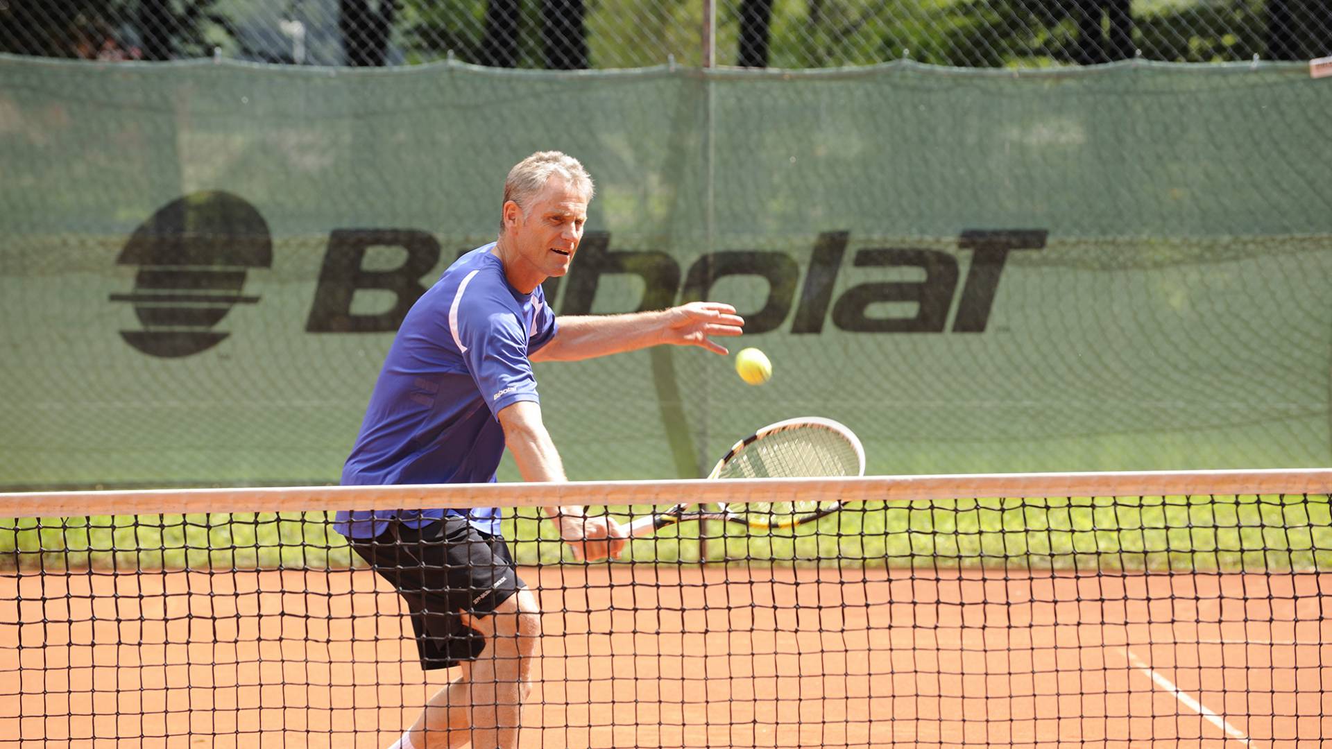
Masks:
[[[569,272],[578,243],[582,241],[587,221],[587,196],[559,175],[551,175],[546,185],[523,211],[517,203],[503,207],[505,228],[514,248],[513,261],[523,277],[549,276]]]

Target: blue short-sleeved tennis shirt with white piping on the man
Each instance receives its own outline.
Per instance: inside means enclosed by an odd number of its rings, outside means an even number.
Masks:
[[[537,401],[527,355],[555,335],[538,285],[509,285],[494,243],[460,257],[417,300],[393,339],[342,484],[480,484],[496,480],[503,429],[496,414]],[[333,529],[369,538],[398,517],[417,528],[446,514],[500,532],[498,508],[338,512]]]

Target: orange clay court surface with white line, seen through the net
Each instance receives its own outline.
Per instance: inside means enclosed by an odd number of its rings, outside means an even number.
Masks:
[[[523,746],[1332,737],[1328,574],[522,574],[551,612]],[[3,577],[0,746],[386,746],[444,678],[397,606],[366,572]]]

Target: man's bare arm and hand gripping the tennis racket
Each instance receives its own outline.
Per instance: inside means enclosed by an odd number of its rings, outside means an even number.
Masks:
[[[541,421],[538,402],[513,402],[500,409],[498,418],[523,481],[567,481],[555,442]],[[627,532],[610,517],[587,517],[577,505],[545,509],[559,528],[559,537],[583,558],[618,557],[625,548]]]

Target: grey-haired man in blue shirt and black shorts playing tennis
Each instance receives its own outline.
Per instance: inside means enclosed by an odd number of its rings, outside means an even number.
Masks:
[[[498,240],[460,257],[402,321],[342,484],[494,481],[505,446],[523,480],[565,481],[531,361],[657,344],[726,353],[710,336],[745,324],[727,304],[555,319],[541,283],[569,272],[591,196],[582,164],[559,152],[509,172]],[[546,513],[578,556],[617,557],[625,545],[609,517]],[[541,618],[500,537],[500,509],[340,512],[334,528],[406,601],[422,668],[462,666],[393,746],[517,746]]]

